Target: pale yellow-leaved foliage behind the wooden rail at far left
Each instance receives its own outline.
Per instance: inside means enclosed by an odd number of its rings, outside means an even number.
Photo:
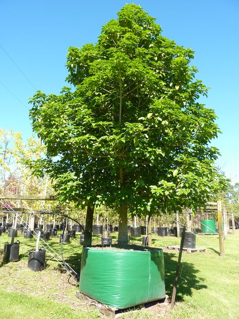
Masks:
[[[0,188],[2,194],[9,195],[39,195],[53,194],[51,181],[46,175],[41,178],[33,175],[33,171],[26,166],[27,161],[34,161],[44,154],[44,145],[40,140],[31,136],[23,141],[20,132],[0,130]],[[42,202],[35,200],[8,201],[13,207],[17,205],[24,209],[42,209]],[[45,209],[53,209],[58,202],[46,202]]]

